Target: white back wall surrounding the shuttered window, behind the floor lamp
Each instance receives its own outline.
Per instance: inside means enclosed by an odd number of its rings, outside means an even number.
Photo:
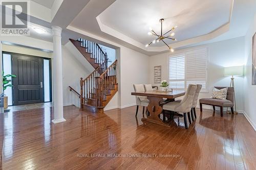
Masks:
[[[200,93],[199,98],[211,96],[214,86],[229,86],[230,77],[224,77],[224,67],[244,64],[244,37],[219,41],[191,48],[177,50],[174,53],[164,53],[150,57],[150,82],[154,83],[154,66],[162,65],[162,79],[168,80],[168,56],[177,55],[197,48],[207,47],[208,49],[208,91]],[[244,110],[243,100],[243,77],[235,77],[237,110]],[[205,106],[206,107],[206,106]]]

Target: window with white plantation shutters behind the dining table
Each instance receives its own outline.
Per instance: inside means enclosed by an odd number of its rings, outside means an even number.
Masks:
[[[186,89],[189,84],[201,84],[207,90],[207,49],[170,56],[169,84],[174,89]]]

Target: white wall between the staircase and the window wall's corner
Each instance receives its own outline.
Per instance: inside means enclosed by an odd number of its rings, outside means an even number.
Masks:
[[[135,105],[135,96],[131,95],[131,92],[134,91],[133,84],[147,84],[149,82],[149,59],[147,55],[121,46],[117,50],[117,60],[118,93],[105,107],[105,110]]]

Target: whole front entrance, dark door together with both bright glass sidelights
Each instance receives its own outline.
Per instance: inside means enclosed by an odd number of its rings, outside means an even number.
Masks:
[[[4,93],[8,106],[52,102],[51,59],[3,52],[4,75],[15,75]]]

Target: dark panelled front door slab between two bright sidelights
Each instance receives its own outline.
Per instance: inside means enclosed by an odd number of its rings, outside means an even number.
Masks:
[[[44,102],[43,59],[12,54],[13,105]]]

